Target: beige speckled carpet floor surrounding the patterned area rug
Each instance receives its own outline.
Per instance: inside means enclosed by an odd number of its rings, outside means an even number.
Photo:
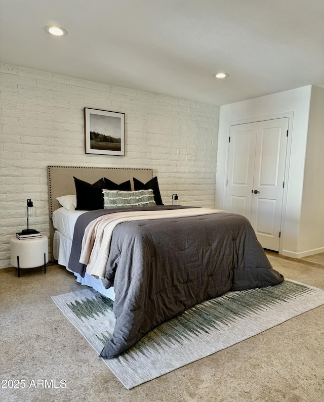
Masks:
[[[324,289],[320,262],[267,255],[286,278]],[[80,289],[60,265],[48,264],[46,275],[22,270],[21,278],[12,267],[0,270],[1,379],[66,382],[0,388],[1,401],[324,401],[324,305],[128,390],[51,299]]]

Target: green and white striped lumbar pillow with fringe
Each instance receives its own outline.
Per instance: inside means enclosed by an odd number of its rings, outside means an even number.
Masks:
[[[153,190],[102,190],[104,208],[133,208],[155,206]]]

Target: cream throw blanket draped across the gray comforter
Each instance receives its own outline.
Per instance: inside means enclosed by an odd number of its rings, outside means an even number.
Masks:
[[[85,230],[79,262],[87,265],[87,274],[95,278],[104,278],[112,231],[116,225],[122,222],[199,216],[221,212],[225,211],[210,208],[183,208],[161,211],[116,212],[99,216],[94,219]]]

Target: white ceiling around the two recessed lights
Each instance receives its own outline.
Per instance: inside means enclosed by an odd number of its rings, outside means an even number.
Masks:
[[[0,61],[224,105],[324,86],[324,0],[0,0]]]

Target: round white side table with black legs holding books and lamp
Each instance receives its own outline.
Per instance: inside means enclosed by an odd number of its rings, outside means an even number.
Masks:
[[[20,278],[21,268],[34,268],[44,265],[44,274],[46,274],[46,263],[49,260],[49,243],[45,235],[33,239],[17,239],[13,237],[10,240],[11,264],[18,269]]]

